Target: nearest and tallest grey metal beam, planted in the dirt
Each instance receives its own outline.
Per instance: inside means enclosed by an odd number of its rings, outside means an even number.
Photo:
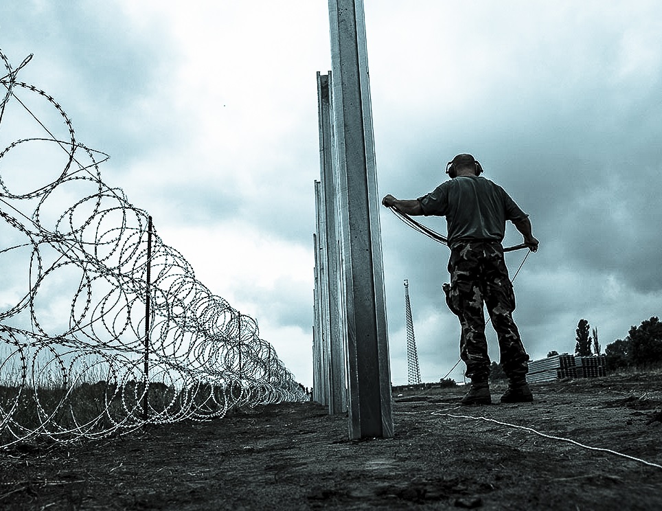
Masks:
[[[382,243],[362,0],[329,1],[350,438],[393,436]]]

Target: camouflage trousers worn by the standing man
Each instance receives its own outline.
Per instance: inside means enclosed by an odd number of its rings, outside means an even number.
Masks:
[[[485,304],[499,339],[503,371],[510,380],[525,378],[529,355],[512,318],[515,295],[501,243],[456,242],[450,250],[448,272],[450,286],[444,284],[446,303],[462,328],[460,357],[466,364],[466,376],[480,380],[490,374]]]

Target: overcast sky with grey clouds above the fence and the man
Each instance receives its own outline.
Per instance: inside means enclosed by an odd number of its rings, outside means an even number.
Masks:
[[[34,54],[19,80],[58,100],[111,156],[104,181],[310,386],[328,3],[181,5],[3,0],[0,49],[14,67]],[[532,359],[573,352],[582,318],[604,348],[661,315],[659,2],[366,0],[365,19],[380,196],[433,190],[459,152],[510,192],[540,240],[514,282]],[[448,249],[387,209],[381,227],[391,379],[407,382],[408,279],[421,376],[438,381],[459,358]],[[507,256],[512,273],[524,255]]]

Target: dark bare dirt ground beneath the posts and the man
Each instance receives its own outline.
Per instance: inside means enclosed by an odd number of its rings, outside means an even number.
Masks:
[[[662,374],[532,389],[484,407],[459,407],[462,387],[395,395],[389,440],[352,442],[346,416],[306,402],[16,446],[0,451],[0,509],[662,509]]]

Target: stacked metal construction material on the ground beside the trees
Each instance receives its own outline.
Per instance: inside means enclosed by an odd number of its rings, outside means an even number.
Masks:
[[[529,362],[527,381],[541,383],[557,378],[595,378],[605,375],[604,355],[574,356],[564,353]]]

